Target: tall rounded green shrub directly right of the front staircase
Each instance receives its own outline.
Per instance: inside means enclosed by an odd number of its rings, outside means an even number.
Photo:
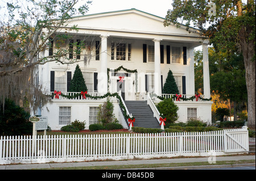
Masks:
[[[177,115],[179,107],[176,106],[172,99],[164,99],[156,107],[159,113],[162,113],[166,117],[166,123],[174,123],[179,117]]]

